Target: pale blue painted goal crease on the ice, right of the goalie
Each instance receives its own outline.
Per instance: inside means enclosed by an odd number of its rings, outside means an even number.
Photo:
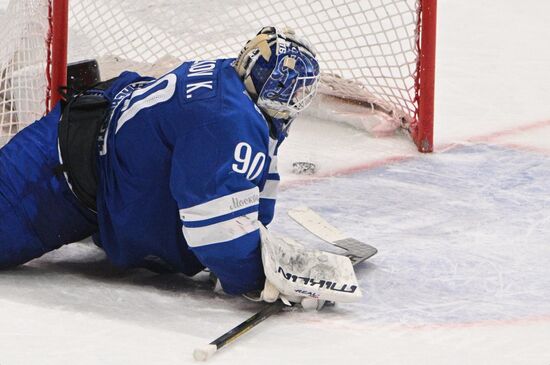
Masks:
[[[351,321],[540,317],[550,314],[548,179],[547,156],[462,146],[289,189],[275,229],[303,237],[284,216],[299,203],[379,249],[362,268],[363,302],[346,306],[357,307]]]

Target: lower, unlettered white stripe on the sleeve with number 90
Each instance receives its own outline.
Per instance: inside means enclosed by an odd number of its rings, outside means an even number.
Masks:
[[[231,241],[259,228],[258,212],[254,212],[205,227],[187,228],[183,226],[183,235],[190,247],[200,247]]]

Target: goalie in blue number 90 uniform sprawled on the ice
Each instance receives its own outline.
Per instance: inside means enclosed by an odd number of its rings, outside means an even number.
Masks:
[[[0,268],[93,235],[116,266],[207,267],[229,294],[358,297],[282,280],[321,260],[323,279],[357,284],[347,258],[264,228],[278,148],[318,80],[311,46],[265,27],[237,59],[185,62],[158,79],[124,72],[68,97],[0,151]]]

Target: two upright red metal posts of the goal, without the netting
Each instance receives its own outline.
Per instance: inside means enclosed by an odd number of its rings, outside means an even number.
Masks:
[[[46,77],[49,85],[46,109],[51,110],[62,96],[60,90],[67,83],[67,52],[69,33],[69,1],[49,0],[50,33]],[[433,151],[434,96],[437,0],[418,1],[416,47],[418,59],[415,78],[416,115],[409,128],[420,152]]]

